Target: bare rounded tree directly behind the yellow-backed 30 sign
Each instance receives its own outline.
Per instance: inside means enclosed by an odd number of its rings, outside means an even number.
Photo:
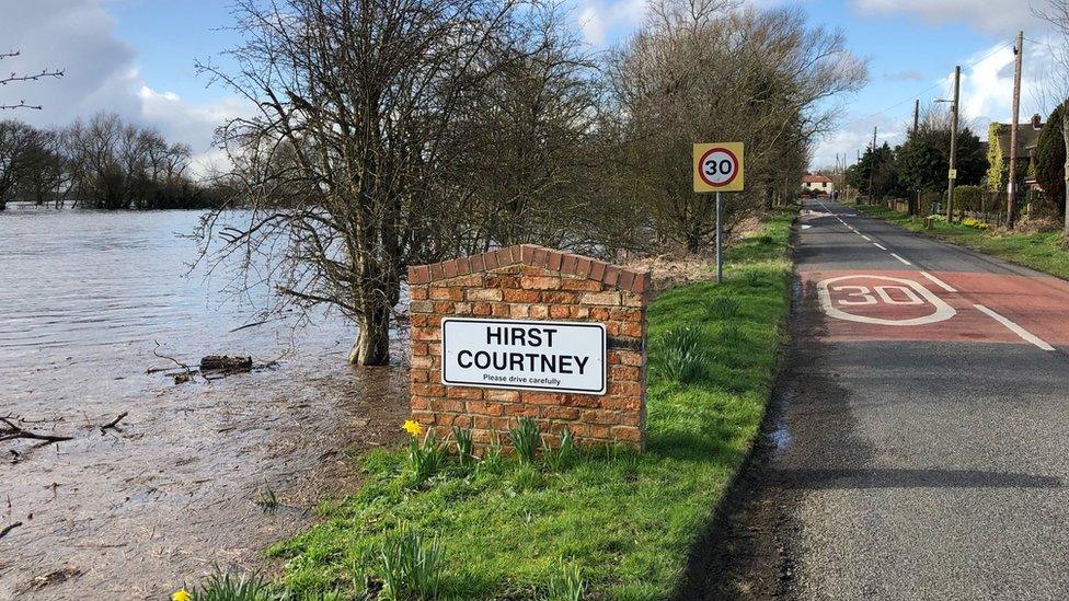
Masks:
[[[714,232],[708,195],[691,192],[690,145],[746,145],[749,189],[728,195],[727,229],[793,194],[837,99],[866,70],[839,32],[809,27],[800,10],[739,9],[725,1],[665,0],[612,60],[628,154],[658,233],[699,251]],[[791,183],[793,180],[794,183]]]

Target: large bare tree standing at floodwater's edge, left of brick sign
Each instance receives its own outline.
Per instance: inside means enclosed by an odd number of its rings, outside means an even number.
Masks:
[[[519,8],[240,1],[237,69],[200,67],[257,108],[218,132],[234,165],[230,206],[251,211],[240,228],[207,218],[205,256],[266,261],[262,279],[283,301],[356,321],[350,362],[387,362],[404,266],[471,242],[457,219],[473,195],[447,176],[467,148],[452,134],[487,80],[531,54]]]

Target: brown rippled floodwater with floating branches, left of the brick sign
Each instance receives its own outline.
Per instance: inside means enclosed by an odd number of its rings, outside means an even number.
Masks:
[[[234,331],[266,290],[235,299],[231,274],[187,275],[181,234],[199,217],[0,212],[0,416],[74,437],[0,442],[0,530],[22,522],[0,539],[0,599],[160,599],[214,564],[274,569],[263,547],[355,485],[353,454],[395,439],[403,371],[345,366],[355,328],[338,315]],[[173,365],[154,352],[277,367],[176,385],[147,373]]]

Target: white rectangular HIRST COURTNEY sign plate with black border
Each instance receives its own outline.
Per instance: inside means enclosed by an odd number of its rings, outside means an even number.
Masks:
[[[599,323],[441,320],[441,383],[579,394],[606,392]]]

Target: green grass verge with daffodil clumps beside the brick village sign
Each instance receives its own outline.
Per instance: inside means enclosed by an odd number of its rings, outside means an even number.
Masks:
[[[468,467],[452,458],[424,482],[406,476],[405,451],[370,454],[356,494],[271,548],[286,562],[276,585],[285,598],[363,598],[391,577],[382,550],[399,529],[440,545],[441,598],[670,596],[765,413],[784,339],[792,218],[778,213],[736,244],[723,285],[682,286],[650,307],[651,362],[669,333],[689,328],[704,365],[686,383],[651,371],[645,452],[577,449],[566,462],[490,453]]]

